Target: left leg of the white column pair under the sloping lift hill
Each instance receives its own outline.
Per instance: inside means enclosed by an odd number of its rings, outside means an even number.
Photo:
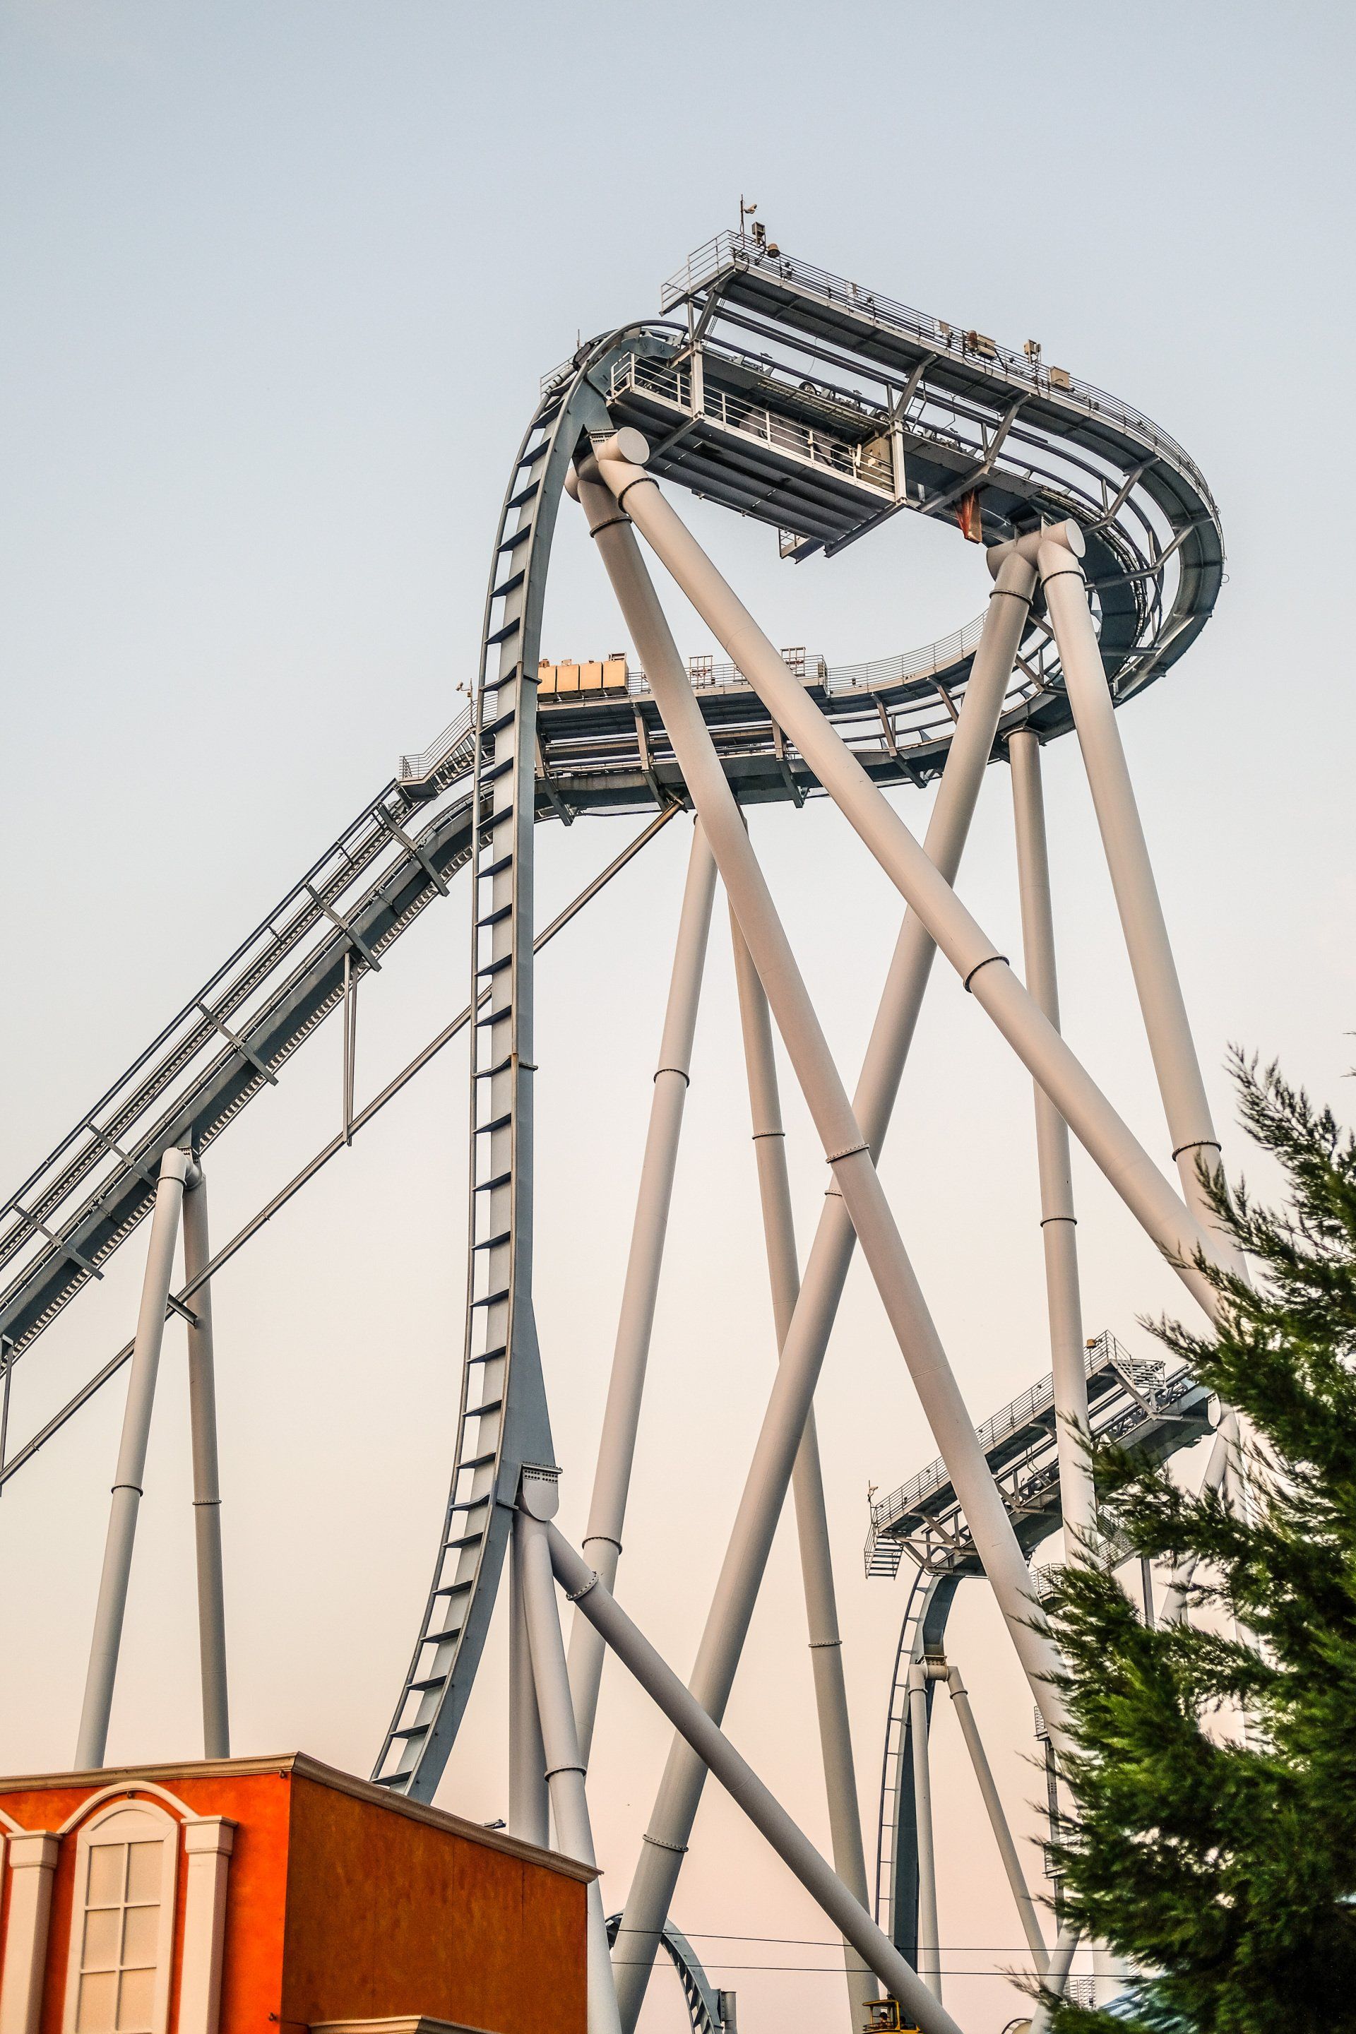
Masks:
[[[102,1766],[104,1749],[108,1745],[108,1719],[114,1707],[122,1617],[126,1613],[128,1580],[132,1574],[136,1509],[140,1505],[142,1477],[146,1473],[150,1410],[155,1405],[155,1383],[161,1369],[161,1344],[165,1340],[165,1312],[169,1306],[169,1285],[175,1269],[179,1210],[183,1206],[183,1188],[191,1163],[193,1159],[187,1151],[171,1147],[161,1159],[161,1178],[155,1190],[150,1245],[146,1249],[146,1275],[142,1281],[140,1312],[136,1316],[136,1344],[132,1349],[128,1401],[126,1412],[122,1414],[122,1442],[118,1446],[114,1501],[108,1515],[108,1542],[104,1546],[100,1601],[94,1613],[89,1674],[85,1678],[85,1700],[79,1715],[79,1739],[75,1743],[77,1770]]]

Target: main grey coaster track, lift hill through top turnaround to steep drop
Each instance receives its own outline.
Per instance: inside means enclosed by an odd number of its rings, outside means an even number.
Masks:
[[[1069,517],[1086,535],[1116,702],[1187,649],[1222,582],[1218,513],[1193,462],[1059,370],[744,236],[693,256],[663,309],[677,315],[588,342],[543,384],[496,529],[474,724],[407,759],[0,1208],[0,1336],[14,1361],[102,1277],[150,1206],[161,1153],[205,1149],[472,866],[461,1403],[429,1597],[374,1774],[423,1800],[476,1674],[518,1471],[551,1462],[531,1300],[535,826],[685,797],[642,673],[620,698],[537,698],[555,515],[581,437],[642,429],[657,478],[771,525],[789,559],[831,555],[905,508],[984,541]],[[789,657],[878,783],[921,785],[945,761],[972,651],[974,631],[960,631],[933,653],[854,671]],[[819,791],[736,669],[693,677],[740,801]],[[996,755],[1019,726],[1043,738],[1071,726],[1039,606]]]

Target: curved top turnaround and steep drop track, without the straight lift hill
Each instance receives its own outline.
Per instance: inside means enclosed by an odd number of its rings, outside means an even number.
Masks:
[[[988,541],[1073,517],[1088,537],[1116,698],[1181,655],[1222,576],[1214,502],[1181,447],[1110,397],[1067,376],[1057,382],[1057,370],[1019,368],[1019,356],[978,334],[958,338],[937,319],[773,260],[738,236],[693,256],[665,307],[683,309],[685,323],[620,327],[547,376],[494,541],[472,789],[480,814],[472,966],[492,1003],[472,1052],[461,1410],[433,1582],[374,1768],[378,1784],[423,1800],[437,1788],[470,1696],[520,1471],[551,1462],[531,1304],[537,785],[561,818],[685,797],[642,673],[628,673],[624,698],[539,708],[551,537],[579,439],[642,429],[651,472],[775,525],[789,557],[838,551],[901,508],[956,515],[968,535]],[[760,352],[750,338],[764,342]],[[923,783],[941,767],[970,671],[964,633],[941,667],[866,667],[864,683],[838,690],[825,665],[791,655],[878,781]],[[1071,724],[1039,616],[1016,671],[998,749],[1014,726],[1049,738]],[[712,679],[701,687],[703,718],[738,797],[799,803],[817,789],[740,673],[703,675]]]

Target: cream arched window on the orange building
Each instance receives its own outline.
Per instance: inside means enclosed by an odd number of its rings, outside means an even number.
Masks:
[[[150,1802],[83,1824],[63,2034],[165,2034],[177,1861],[179,1824]]]

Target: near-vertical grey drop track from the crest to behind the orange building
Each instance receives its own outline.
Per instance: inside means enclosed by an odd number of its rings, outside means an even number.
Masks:
[[[498,1593],[518,1477],[551,1467],[531,1292],[533,832],[541,602],[565,468],[606,411],[577,376],[539,405],[494,539],[482,633],[472,807],[470,1263],[451,1487],[419,1637],[372,1778],[431,1800]]]

